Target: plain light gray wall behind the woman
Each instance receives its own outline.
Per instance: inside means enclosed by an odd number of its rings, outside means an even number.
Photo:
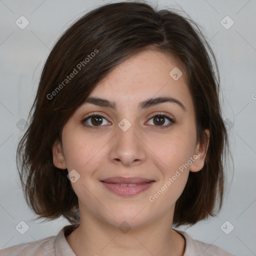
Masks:
[[[27,119],[40,71],[57,38],[83,13],[104,2],[110,1],[0,0],[0,248],[56,235],[69,224],[62,218],[47,223],[31,220],[35,215],[25,203],[15,165],[23,134],[19,120]],[[220,69],[221,104],[234,159],[234,169],[231,164],[226,170],[226,194],[218,217],[179,229],[236,255],[256,255],[256,1],[159,0],[158,5],[182,7],[204,28]],[[21,15],[29,21],[24,29],[15,24]],[[234,21],[229,29],[221,24],[226,15]],[[21,220],[29,226],[24,234],[15,229]],[[234,226],[229,234],[220,228],[226,220]]]

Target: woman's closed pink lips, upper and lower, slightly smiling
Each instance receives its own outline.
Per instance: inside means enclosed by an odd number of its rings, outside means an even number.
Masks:
[[[142,177],[110,177],[100,182],[115,194],[132,196],[147,190],[155,180]]]

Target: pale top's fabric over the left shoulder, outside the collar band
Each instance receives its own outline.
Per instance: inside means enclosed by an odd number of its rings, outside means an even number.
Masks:
[[[49,236],[37,241],[20,243],[0,250],[0,256],[16,255],[55,255],[54,240],[56,236]]]

